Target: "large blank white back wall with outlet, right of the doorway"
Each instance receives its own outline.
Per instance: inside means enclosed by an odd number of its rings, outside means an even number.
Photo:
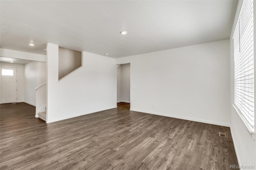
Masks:
[[[131,110],[229,126],[229,52],[222,40],[116,59],[130,63]]]

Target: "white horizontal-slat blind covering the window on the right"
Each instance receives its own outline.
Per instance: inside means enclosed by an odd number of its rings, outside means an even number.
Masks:
[[[235,105],[254,128],[253,0],[244,0],[234,32]]]

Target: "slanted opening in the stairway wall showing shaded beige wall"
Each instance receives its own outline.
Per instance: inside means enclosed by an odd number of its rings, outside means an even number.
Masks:
[[[81,66],[81,51],[59,47],[59,80]]]

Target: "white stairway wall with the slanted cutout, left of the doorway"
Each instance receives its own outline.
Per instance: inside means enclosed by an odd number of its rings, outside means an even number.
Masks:
[[[83,66],[58,82],[58,45],[47,49],[47,123],[116,107],[115,59],[83,51]]]

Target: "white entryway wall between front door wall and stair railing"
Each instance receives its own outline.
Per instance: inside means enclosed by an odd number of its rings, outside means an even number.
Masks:
[[[42,83],[46,82],[46,62],[32,61],[25,64],[25,96],[24,101],[30,105],[36,105],[36,90]]]

